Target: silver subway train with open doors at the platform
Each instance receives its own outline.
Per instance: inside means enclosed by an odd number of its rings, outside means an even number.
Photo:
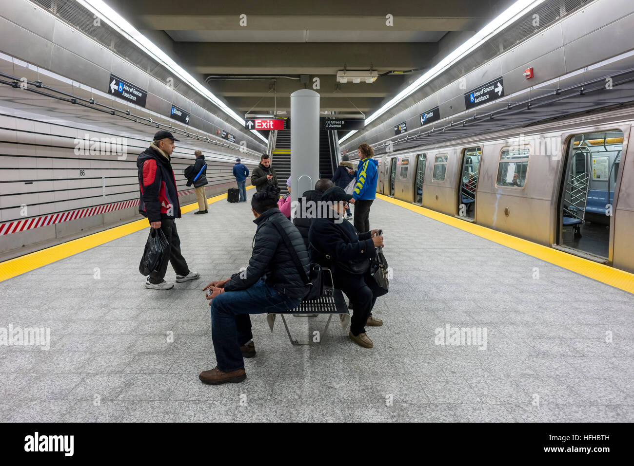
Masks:
[[[377,192],[634,272],[633,123],[620,108],[378,154]]]

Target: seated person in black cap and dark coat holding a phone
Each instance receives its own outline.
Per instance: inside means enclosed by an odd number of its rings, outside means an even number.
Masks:
[[[329,215],[311,220],[308,233],[311,261],[333,272],[335,288],[346,293],[353,305],[348,336],[364,348],[372,348],[372,340],[365,333],[365,325],[380,327],[383,321],[372,316],[378,296],[385,294],[370,275],[370,259],[375,246],[383,246],[378,230],[359,233],[350,222],[344,222],[352,194],[340,187],[331,187],[321,196],[328,205]]]

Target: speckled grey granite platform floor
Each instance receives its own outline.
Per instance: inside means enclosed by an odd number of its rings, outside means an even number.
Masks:
[[[374,348],[338,321],[295,347],[257,315],[247,379],[202,384],[216,365],[202,287],[247,265],[252,218],[218,201],[178,220],[202,278],[169,291],[138,272],[148,230],[1,283],[0,331],[48,328],[50,348],[0,346],[0,420],[634,421],[634,295],[378,199],[392,280]],[[304,338],[325,324],[287,320]],[[481,339],[440,344],[447,325]]]

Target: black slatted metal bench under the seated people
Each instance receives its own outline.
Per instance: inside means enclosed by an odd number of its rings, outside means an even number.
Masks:
[[[284,323],[288,339],[290,340],[290,343],[295,346],[306,344],[321,344],[321,341],[323,341],[323,339],[326,337],[326,333],[328,332],[328,325],[330,325],[330,320],[332,319],[333,315],[339,316],[342,329],[345,329],[350,323],[350,313],[346,305],[346,300],[344,299],[344,294],[341,292],[340,289],[337,289],[333,286],[332,272],[329,268],[322,268],[321,270],[321,273],[323,274],[324,285],[323,292],[321,293],[319,299],[304,299],[301,303],[299,303],[299,306],[294,309],[290,309],[285,312],[269,313],[266,316],[266,322],[269,324],[271,332],[273,332],[273,326],[275,325],[276,316],[281,316],[281,320]],[[290,334],[290,330],[288,329],[286,319],[284,318],[285,315],[314,317],[320,314],[328,315],[328,320],[326,322],[326,326],[323,329],[323,332],[321,332],[318,342],[314,342],[310,338],[307,341],[298,341],[297,339],[292,337],[292,335]]]

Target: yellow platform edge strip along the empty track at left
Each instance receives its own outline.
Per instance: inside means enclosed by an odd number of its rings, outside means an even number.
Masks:
[[[253,187],[254,186],[248,186],[247,189],[252,189]],[[207,203],[213,204],[214,202],[226,198],[226,194],[218,194],[217,196],[207,198]],[[181,214],[191,212],[197,208],[197,202],[182,206]],[[140,220],[133,220],[133,222],[125,225],[119,225],[119,227],[113,227],[88,236],[63,242],[62,244],[56,244],[55,246],[41,249],[34,253],[6,260],[0,263],[0,282],[146,228],[150,228],[148,219],[141,218]],[[139,252],[139,260],[141,253],[142,252]]]

